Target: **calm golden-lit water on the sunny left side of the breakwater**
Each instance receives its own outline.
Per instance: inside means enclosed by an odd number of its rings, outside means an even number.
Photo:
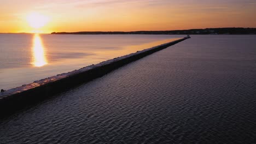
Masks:
[[[97,64],[181,35],[0,34],[0,89]]]

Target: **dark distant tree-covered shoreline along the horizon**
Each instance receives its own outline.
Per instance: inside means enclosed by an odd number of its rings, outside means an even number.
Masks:
[[[256,34],[256,28],[205,28],[174,31],[53,32],[51,34]]]

